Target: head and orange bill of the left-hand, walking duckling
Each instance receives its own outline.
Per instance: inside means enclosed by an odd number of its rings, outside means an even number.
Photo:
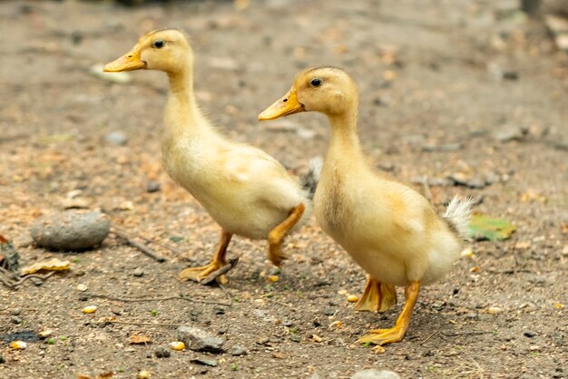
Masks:
[[[193,64],[187,36],[178,29],[159,29],[143,35],[132,50],[104,65],[103,71],[159,70],[176,74]]]

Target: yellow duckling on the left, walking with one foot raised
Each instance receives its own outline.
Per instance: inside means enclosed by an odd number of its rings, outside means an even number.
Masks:
[[[152,31],[126,55],[104,65],[105,72],[140,69],[163,71],[170,79],[162,134],[165,170],[222,229],[211,264],[187,268],[180,279],[205,283],[226,271],[233,234],[268,239],[270,261],[281,264],[284,237],[311,214],[308,185],[302,187],[298,177],[262,150],[229,141],[201,113],[193,92],[193,52],[183,32]],[[305,183],[317,181],[308,178]],[[219,280],[226,283],[224,275]]]

